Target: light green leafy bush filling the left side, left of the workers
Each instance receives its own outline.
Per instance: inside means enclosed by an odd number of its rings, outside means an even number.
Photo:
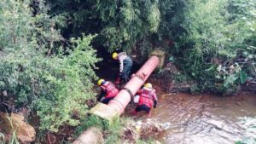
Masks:
[[[48,36],[55,32],[61,37],[58,31],[39,25],[55,20],[43,14],[44,10],[32,16],[29,4],[0,2],[0,90],[15,97],[16,108],[36,111],[41,130],[77,125],[87,111],[85,101],[95,96],[91,82],[96,79],[93,69],[100,59],[90,46],[94,36],[73,38],[72,46],[65,50],[57,47],[52,42],[58,39]],[[49,49],[58,51],[49,55]]]

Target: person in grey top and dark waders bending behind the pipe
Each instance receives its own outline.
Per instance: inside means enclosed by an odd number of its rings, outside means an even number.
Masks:
[[[128,82],[129,75],[131,72],[132,60],[129,55],[125,52],[114,52],[112,54],[113,60],[119,60],[119,77],[116,79],[115,84],[120,84],[121,82]]]

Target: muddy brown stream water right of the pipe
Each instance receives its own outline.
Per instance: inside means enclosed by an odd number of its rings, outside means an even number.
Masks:
[[[159,138],[172,144],[234,144],[244,130],[240,117],[256,116],[256,95],[160,95],[152,118],[170,122],[171,129]]]

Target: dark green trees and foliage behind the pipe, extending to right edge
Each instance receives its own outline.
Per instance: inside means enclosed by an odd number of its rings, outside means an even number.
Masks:
[[[67,17],[63,33],[97,33],[109,51],[136,52],[140,60],[155,48],[174,55],[193,92],[233,94],[255,77],[255,2],[50,1],[54,15]],[[143,57],[144,55],[144,57]]]

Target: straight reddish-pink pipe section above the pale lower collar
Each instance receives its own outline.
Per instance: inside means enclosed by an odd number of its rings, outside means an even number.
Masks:
[[[119,94],[112,101],[109,101],[108,106],[116,109],[119,115],[122,114],[125,111],[125,107],[131,101],[131,97],[142,87],[158,64],[159,58],[157,56],[151,56],[138,72],[131,76],[131,80],[125,84],[124,89],[120,90]]]

